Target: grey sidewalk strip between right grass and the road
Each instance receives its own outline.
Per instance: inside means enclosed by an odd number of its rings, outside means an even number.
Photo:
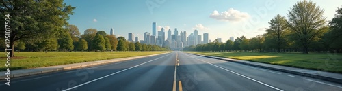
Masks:
[[[311,70],[311,69],[300,69],[300,68],[295,68],[295,67],[271,65],[271,64],[261,63],[261,62],[251,62],[251,61],[246,61],[246,60],[237,60],[237,59],[222,58],[222,57],[215,57],[215,56],[205,56],[205,55],[200,55],[200,54],[194,54],[194,55],[204,56],[207,58],[215,58],[218,60],[226,60],[226,61],[230,61],[230,62],[236,62],[236,63],[240,63],[240,64],[244,64],[244,65],[250,65],[250,66],[254,66],[254,67],[261,67],[261,68],[271,69],[271,70],[275,70],[275,71],[282,71],[285,73],[292,73],[295,75],[302,75],[305,77],[313,77],[316,79],[323,79],[326,81],[333,81],[333,82],[337,82],[339,84],[342,84],[342,74],[340,74],[340,73],[330,73],[330,72],[317,71],[317,70]]]

